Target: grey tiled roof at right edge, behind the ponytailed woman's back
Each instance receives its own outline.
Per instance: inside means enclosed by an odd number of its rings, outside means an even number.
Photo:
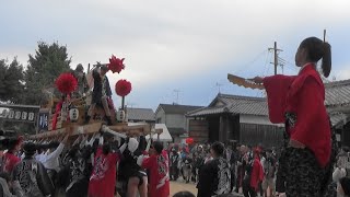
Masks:
[[[326,88],[326,106],[350,105],[350,80],[329,82]]]

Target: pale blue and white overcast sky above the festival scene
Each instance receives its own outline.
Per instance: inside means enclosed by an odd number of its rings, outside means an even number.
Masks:
[[[108,73],[132,83],[126,103],[155,109],[160,103],[208,105],[219,92],[261,96],[229,83],[228,73],[273,74],[277,42],[284,59],[279,73],[295,74],[303,38],[332,46],[330,79],[350,78],[349,0],[31,0],[1,1],[0,58],[27,63],[37,42],[68,47],[71,67],[125,58],[126,70]],[[177,96],[178,95],[178,96]],[[114,95],[115,104],[120,99]]]

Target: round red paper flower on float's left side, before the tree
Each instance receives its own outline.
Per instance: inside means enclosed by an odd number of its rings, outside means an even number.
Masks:
[[[63,93],[69,94],[78,86],[78,81],[71,73],[61,73],[55,81],[57,89]]]

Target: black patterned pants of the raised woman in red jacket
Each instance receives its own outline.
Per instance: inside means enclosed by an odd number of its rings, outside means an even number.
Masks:
[[[291,197],[320,197],[325,170],[310,149],[287,148],[280,158],[277,188]]]

